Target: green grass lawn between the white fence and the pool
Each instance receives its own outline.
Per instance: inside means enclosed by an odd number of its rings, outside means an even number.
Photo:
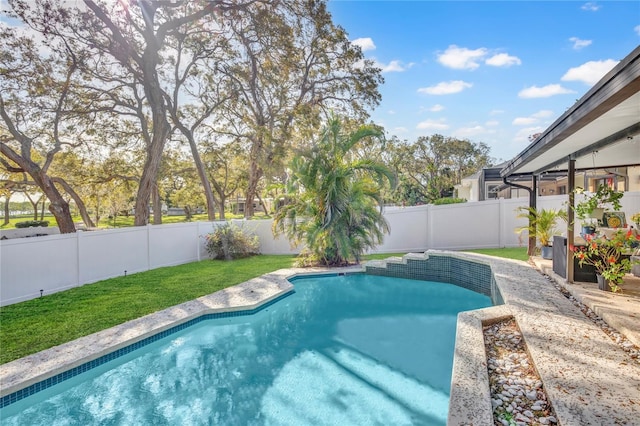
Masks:
[[[469,250],[526,260],[526,248]],[[372,254],[365,260],[402,256]],[[0,364],[214,293],[277,269],[295,256],[203,260],[111,278],[0,308]]]

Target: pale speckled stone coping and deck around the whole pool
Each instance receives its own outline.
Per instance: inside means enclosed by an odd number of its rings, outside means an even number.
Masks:
[[[408,256],[430,255],[488,264],[505,303],[458,315],[448,425],[493,425],[482,328],[510,317],[523,334],[559,424],[632,424],[640,418],[640,366],[530,264],[436,250]],[[364,270],[364,265],[281,269],[11,361],[0,365],[0,397],[202,315],[259,308],[293,291],[289,278]]]

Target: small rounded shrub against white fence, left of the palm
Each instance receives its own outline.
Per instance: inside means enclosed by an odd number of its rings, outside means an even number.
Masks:
[[[204,236],[207,253],[212,259],[239,259],[259,253],[260,241],[255,235],[249,235],[244,229],[233,224],[218,226],[212,233]]]

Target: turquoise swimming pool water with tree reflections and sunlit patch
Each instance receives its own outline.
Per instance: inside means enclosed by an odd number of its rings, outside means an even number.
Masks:
[[[3,425],[445,425],[452,284],[301,278],[254,315],[204,320],[0,410]]]

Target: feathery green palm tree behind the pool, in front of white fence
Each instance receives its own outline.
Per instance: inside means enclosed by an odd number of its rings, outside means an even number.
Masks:
[[[286,204],[275,215],[274,233],[304,243],[303,264],[345,265],[382,241],[388,224],[382,216],[381,189],[395,185],[393,173],[351,149],[364,138],[381,138],[373,126],[343,131],[333,116],[317,143],[291,162]]]

